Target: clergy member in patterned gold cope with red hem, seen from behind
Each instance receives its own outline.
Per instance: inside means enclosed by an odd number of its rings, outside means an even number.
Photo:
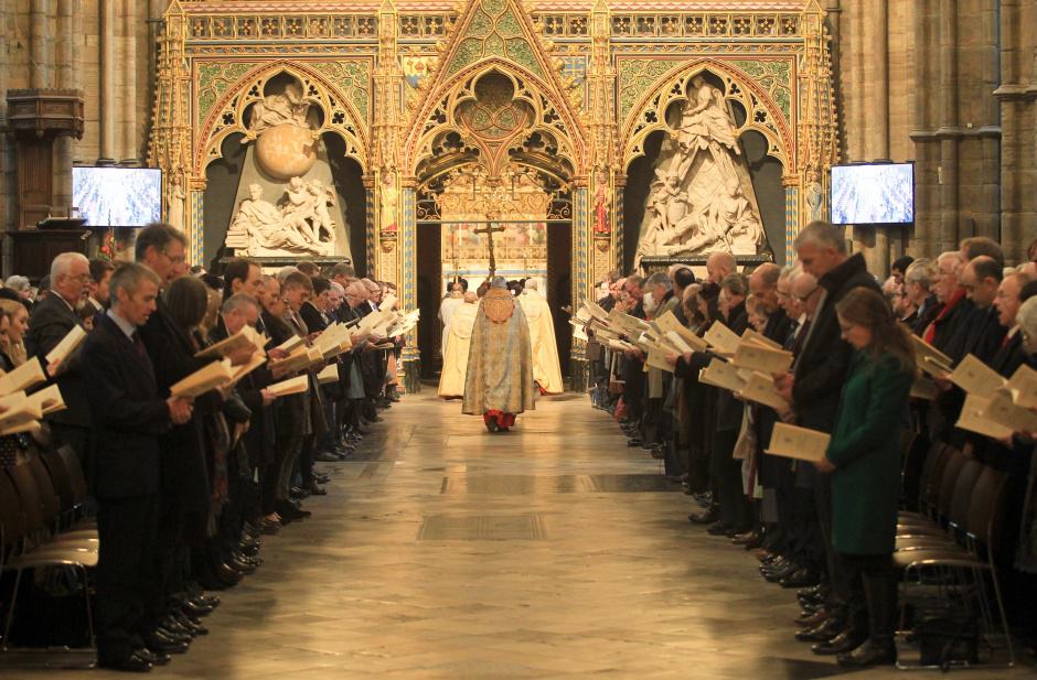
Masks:
[[[507,431],[533,409],[533,353],[522,306],[503,277],[479,303],[472,330],[462,412],[482,415],[490,432]]]

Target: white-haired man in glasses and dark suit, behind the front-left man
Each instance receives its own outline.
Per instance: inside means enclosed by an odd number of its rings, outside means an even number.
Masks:
[[[33,305],[25,333],[25,350],[39,357],[51,379],[57,384],[65,404],[64,411],[47,418],[55,444],[67,444],[89,469],[90,407],[83,382],[82,361],[74,354],[65,366],[47,367],[46,355],[79,325],[76,309],[90,282],[90,263],[78,252],[63,252],[51,263],[53,292]]]

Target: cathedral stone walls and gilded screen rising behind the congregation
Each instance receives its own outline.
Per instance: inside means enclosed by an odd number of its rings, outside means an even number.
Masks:
[[[159,169],[153,211],[192,263],[349,258],[409,307],[485,276],[491,223],[500,271],[556,307],[611,270],[717,249],[783,265],[833,216],[876,271],[969,236],[1019,260],[1037,230],[1028,2],[265,9],[4,3],[6,274],[58,238],[39,222],[87,215],[86,166]],[[833,212],[854,198],[832,168],[880,164],[907,164],[902,214]],[[88,220],[86,247],[132,238],[113,224]]]

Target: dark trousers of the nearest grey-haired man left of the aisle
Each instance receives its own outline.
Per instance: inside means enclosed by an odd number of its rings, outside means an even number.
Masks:
[[[143,647],[147,603],[154,601],[154,494],[101,498],[97,506],[97,651],[120,658]]]

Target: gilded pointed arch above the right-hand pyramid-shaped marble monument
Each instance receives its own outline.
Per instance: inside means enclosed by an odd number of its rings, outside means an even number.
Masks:
[[[750,75],[736,63],[701,60],[689,63],[656,80],[644,96],[630,107],[632,111],[621,123],[621,152],[623,166],[644,155],[644,143],[656,130],[671,132],[666,121],[667,109],[677,101],[687,101],[688,85],[695,76],[708,72],[724,82],[724,98],[737,101],[746,111],[745,122],[736,129],[740,137],[756,130],[767,140],[767,154],[778,159],[787,171],[795,168],[794,142],[795,110],[793,62],[773,63],[769,74]],[[758,62],[752,62],[758,67]],[[779,104],[779,100],[782,104]]]

